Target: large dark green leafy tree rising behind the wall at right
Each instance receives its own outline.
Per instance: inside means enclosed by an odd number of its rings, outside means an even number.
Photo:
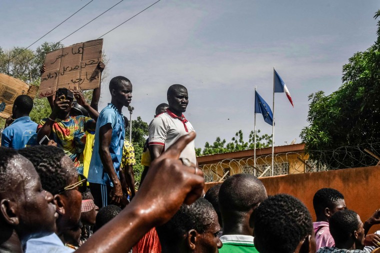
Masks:
[[[374,18],[380,16],[380,10]],[[362,161],[351,154],[326,152],[340,146],[371,144],[380,139],[380,21],[377,40],[367,50],[357,52],[342,68],[342,85],[330,95],[323,91],[308,96],[310,105],[307,121],[300,137],[310,159],[332,168],[356,167]],[[360,153],[360,152],[359,152]],[[368,158],[371,159],[371,158]],[[370,163],[370,162],[369,162]],[[372,163],[376,163],[372,160]]]

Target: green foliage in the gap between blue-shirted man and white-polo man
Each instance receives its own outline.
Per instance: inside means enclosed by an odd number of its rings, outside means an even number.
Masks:
[[[140,182],[141,174],[144,170],[144,166],[142,166],[140,162],[148,134],[148,124],[142,121],[140,116],[138,116],[136,120],[132,120],[132,144],[134,148],[134,156],[136,158],[136,165],[133,166],[135,182]],[[129,140],[129,130],[125,133],[125,139]]]

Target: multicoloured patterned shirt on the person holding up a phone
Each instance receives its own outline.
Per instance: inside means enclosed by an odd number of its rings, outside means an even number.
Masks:
[[[44,118],[39,122],[37,127],[40,129],[48,118]],[[55,119],[52,125],[50,137],[57,146],[63,149],[64,153],[74,162],[78,173],[83,173],[83,153],[85,146],[85,131],[89,123],[94,122],[93,119],[85,116],[69,117],[67,119]]]

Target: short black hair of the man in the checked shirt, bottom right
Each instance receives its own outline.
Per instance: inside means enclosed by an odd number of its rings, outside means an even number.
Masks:
[[[333,214],[328,224],[335,244],[343,244],[359,229],[360,223],[354,211],[342,210]]]

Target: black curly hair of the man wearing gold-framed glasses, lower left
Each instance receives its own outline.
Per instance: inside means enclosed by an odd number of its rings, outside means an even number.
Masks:
[[[42,188],[52,194],[66,187],[70,178],[76,174],[75,169],[67,170],[62,167],[61,160],[65,154],[60,148],[41,145],[20,149],[18,153],[34,165]]]

